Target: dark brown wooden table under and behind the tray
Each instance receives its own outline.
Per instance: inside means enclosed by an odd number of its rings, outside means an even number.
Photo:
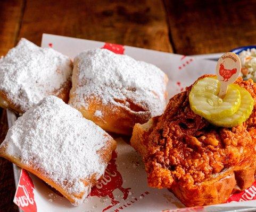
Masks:
[[[1,0],[0,55],[42,33],[194,55],[256,43],[256,1]],[[0,142],[7,132],[0,109]],[[0,158],[0,211],[18,211],[12,164]]]

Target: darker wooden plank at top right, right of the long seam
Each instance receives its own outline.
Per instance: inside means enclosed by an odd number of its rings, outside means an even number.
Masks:
[[[164,0],[175,52],[225,52],[256,44],[256,1]]]

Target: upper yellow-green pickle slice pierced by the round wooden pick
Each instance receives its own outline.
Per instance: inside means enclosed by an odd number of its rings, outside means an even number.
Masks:
[[[189,93],[191,109],[205,119],[220,119],[234,114],[241,104],[240,91],[229,85],[223,99],[219,98],[220,83],[217,78],[205,77]]]

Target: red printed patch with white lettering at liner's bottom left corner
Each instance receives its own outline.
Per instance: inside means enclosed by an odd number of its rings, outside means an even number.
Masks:
[[[36,202],[34,197],[34,184],[26,170],[21,169],[19,184],[13,202],[24,212],[36,212]]]

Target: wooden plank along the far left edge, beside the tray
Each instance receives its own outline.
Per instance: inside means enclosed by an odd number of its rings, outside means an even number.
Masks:
[[[23,13],[23,0],[0,1],[0,56],[15,45]],[[0,109],[0,144],[7,133],[6,111]],[[18,211],[13,204],[15,184],[12,163],[0,158],[0,211]]]

